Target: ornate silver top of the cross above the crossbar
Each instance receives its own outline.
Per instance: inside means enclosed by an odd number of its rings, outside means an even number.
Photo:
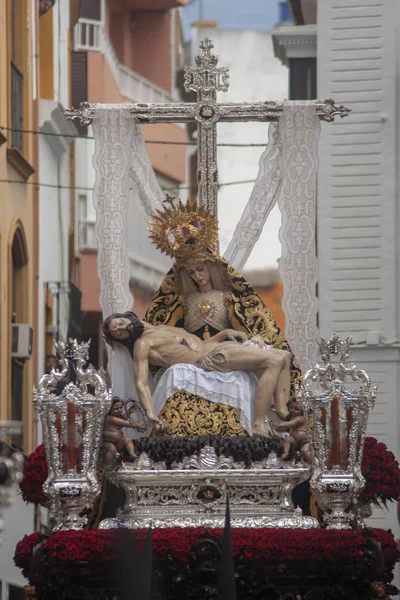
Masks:
[[[211,40],[200,43],[201,52],[195,58],[196,67],[185,67],[185,91],[197,92],[199,99],[212,96],[216,92],[227,92],[229,88],[228,67],[217,67],[218,56],[212,54]]]

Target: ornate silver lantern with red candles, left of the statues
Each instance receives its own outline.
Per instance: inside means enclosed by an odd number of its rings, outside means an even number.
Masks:
[[[84,369],[89,345],[76,340],[56,343],[61,368],[44,375],[34,392],[48,468],[43,491],[49,497],[56,529],[83,527],[86,517],[82,513],[100,492],[96,469],[111,392],[102,373],[92,365]],[[69,361],[76,383],[68,383],[58,394],[57,384],[65,381]]]

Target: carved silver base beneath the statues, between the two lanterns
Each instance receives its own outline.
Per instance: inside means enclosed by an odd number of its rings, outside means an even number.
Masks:
[[[291,500],[293,488],[309,477],[308,465],[282,462],[275,454],[246,468],[206,446],[168,470],[142,454],[107,477],[124,489],[126,503],[101,529],[223,527],[227,498],[233,527],[318,527]]]

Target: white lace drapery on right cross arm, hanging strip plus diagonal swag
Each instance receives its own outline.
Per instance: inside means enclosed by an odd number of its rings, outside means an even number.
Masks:
[[[303,372],[315,364],[317,352],[315,194],[320,128],[315,102],[285,102],[279,124],[270,125],[254,189],[224,255],[241,271],[278,202],[285,336]]]

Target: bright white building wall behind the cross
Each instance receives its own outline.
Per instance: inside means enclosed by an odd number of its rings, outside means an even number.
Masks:
[[[229,67],[230,86],[218,94],[219,102],[284,100],[288,96],[288,71],[274,57],[272,37],[268,31],[192,28],[192,60],[200,41],[208,37],[219,57],[219,66]],[[254,180],[258,162],[268,141],[268,123],[220,123],[218,143],[263,144],[263,147],[219,147],[218,180],[220,183]],[[236,224],[250,197],[254,183],[221,186],[218,211],[221,252],[227,248]],[[264,231],[251,253],[246,269],[277,266],[281,256],[278,231],[281,215],[278,207],[271,212]]]

